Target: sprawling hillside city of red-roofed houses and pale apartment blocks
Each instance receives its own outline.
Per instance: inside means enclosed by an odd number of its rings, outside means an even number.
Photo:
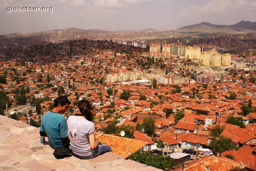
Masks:
[[[143,34],[2,41],[0,114],[40,127],[58,96],[71,101],[66,118],[86,99],[95,132],[144,142],[125,158],[162,170],[255,170],[256,35]]]

